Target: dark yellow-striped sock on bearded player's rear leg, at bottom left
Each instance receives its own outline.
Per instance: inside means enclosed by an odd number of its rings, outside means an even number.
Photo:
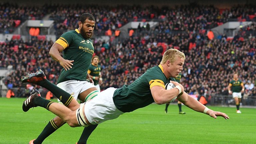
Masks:
[[[49,123],[45,126],[44,130],[40,133],[40,135],[33,142],[34,144],[41,144],[49,135],[54,133],[58,127],[54,123],[53,119],[49,121]]]

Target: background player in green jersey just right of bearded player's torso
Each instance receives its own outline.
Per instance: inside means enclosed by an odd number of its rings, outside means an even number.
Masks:
[[[99,63],[99,57],[94,56],[92,57],[92,63],[89,66],[88,74],[92,78],[94,85],[98,88],[100,91],[100,85],[102,83],[102,77],[101,77],[101,66],[98,65]]]

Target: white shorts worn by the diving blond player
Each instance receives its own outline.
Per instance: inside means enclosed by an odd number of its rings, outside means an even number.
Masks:
[[[113,101],[116,88],[108,88],[85,103],[84,113],[91,124],[99,124],[119,117],[123,112],[118,110]]]

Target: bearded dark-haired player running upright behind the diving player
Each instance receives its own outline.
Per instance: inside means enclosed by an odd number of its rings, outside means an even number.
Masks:
[[[78,98],[82,102],[88,101],[98,95],[98,89],[87,81],[90,79],[87,70],[91,63],[94,53],[92,44],[92,32],[95,27],[93,15],[84,13],[78,22],[78,29],[63,33],[60,38],[52,45],[49,54],[63,67],[57,82],[57,86],[70,95],[75,100]],[[63,52],[63,57],[60,53]],[[59,101],[59,100],[58,100]],[[73,103],[63,103],[65,106],[73,109]],[[45,126],[41,134],[29,144],[41,144],[45,138],[60,128],[65,122],[60,117],[55,117]],[[78,144],[86,143],[91,132],[97,125],[84,129]]]

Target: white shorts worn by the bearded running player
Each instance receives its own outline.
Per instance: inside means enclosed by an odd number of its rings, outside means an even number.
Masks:
[[[78,95],[80,93],[88,90],[89,88],[95,87],[95,85],[90,82],[87,82],[87,81],[69,80],[69,81],[58,83],[57,87],[68,92],[70,95],[72,95],[77,100]],[[89,94],[87,96],[87,100],[91,99],[90,96],[93,96],[93,94],[92,93],[91,93],[91,95]],[[58,102],[60,102],[59,99],[58,99]]]

